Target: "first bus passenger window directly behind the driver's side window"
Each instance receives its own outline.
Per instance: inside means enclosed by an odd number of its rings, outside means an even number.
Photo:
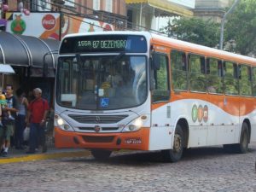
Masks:
[[[187,62],[185,53],[172,50],[171,66],[173,90],[187,90]]]

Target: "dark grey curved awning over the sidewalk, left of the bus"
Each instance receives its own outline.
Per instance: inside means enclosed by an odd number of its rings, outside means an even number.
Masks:
[[[0,63],[22,67],[55,68],[60,42],[0,32]]]

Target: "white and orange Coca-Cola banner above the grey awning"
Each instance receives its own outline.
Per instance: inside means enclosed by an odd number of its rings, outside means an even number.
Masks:
[[[7,32],[33,36],[36,38],[54,38],[60,40],[70,33],[113,31],[113,25],[99,20],[91,20],[59,13],[30,13],[7,12]],[[61,26],[61,30],[60,30]]]

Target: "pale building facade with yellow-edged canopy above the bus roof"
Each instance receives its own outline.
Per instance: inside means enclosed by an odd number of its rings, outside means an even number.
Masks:
[[[195,0],[125,0],[128,28],[159,32],[173,17],[194,15]]]

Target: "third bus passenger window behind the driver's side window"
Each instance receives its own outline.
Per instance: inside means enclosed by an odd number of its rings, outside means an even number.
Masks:
[[[207,91],[209,93],[223,93],[222,61],[214,58],[207,59]]]

